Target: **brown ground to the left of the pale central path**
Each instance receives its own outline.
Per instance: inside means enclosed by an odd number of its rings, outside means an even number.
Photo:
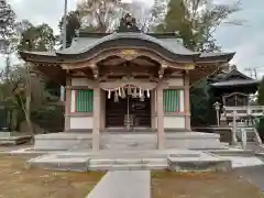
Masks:
[[[0,155],[0,198],[84,198],[105,175],[28,169],[26,160]]]

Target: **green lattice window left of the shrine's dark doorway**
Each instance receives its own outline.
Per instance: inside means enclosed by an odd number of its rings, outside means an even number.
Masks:
[[[76,90],[76,112],[92,112],[94,91]]]

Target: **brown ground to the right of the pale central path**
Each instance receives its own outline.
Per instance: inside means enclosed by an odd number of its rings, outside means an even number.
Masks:
[[[235,173],[152,173],[152,198],[264,198]]]

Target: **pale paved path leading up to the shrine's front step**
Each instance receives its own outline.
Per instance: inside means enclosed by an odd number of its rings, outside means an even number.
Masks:
[[[86,198],[150,198],[150,170],[108,172]]]

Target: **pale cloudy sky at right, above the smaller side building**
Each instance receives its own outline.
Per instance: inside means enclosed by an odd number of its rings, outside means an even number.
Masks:
[[[232,18],[246,22],[241,26],[221,25],[216,37],[223,50],[237,52],[231,63],[245,72],[245,68],[261,67],[264,63],[264,1],[254,0],[249,3],[242,0],[242,9]],[[263,72],[260,69],[258,77]]]

